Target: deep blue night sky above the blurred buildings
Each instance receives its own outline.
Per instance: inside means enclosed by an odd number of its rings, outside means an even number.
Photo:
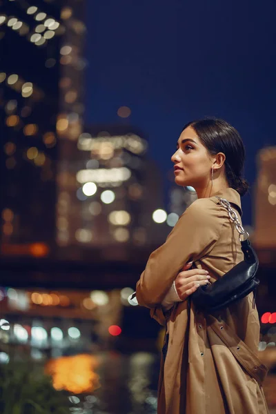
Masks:
[[[167,190],[182,126],[221,117],[244,139],[253,186],[257,151],[276,144],[275,0],[87,3],[86,124],[141,128]],[[244,224],[253,190],[242,200]]]

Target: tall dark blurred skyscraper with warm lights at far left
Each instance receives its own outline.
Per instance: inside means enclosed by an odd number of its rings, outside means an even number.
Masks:
[[[84,2],[1,3],[1,252],[46,255],[57,160],[70,162],[81,133]]]

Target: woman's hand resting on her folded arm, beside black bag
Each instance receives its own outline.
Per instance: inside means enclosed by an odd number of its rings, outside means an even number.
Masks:
[[[187,263],[175,279],[175,288],[180,299],[185,300],[189,295],[199,288],[200,285],[208,284],[210,276],[207,270],[190,269],[193,262]]]

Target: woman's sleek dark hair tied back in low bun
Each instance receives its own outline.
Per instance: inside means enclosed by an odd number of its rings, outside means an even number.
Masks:
[[[211,155],[223,152],[226,179],[230,187],[237,190],[239,195],[246,194],[249,184],[242,177],[244,169],[245,148],[239,132],[223,119],[206,118],[188,122],[183,128],[191,126],[200,141]]]

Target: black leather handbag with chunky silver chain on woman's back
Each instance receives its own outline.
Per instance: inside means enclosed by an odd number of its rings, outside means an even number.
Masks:
[[[207,313],[227,308],[250,292],[254,292],[253,306],[255,306],[255,293],[259,285],[259,280],[255,277],[259,267],[257,255],[248,238],[241,240],[242,235],[246,234],[247,237],[249,235],[242,227],[242,224],[239,223],[237,213],[230,206],[230,203],[226,199],[217,198],[219,199],[219,204],[227,208],[230,220],[235,223],[235,227],[239,232],[239,241],[242,244],[244,260],[213,284],[199,286],[195,293],[191,295],[196,308]]]

